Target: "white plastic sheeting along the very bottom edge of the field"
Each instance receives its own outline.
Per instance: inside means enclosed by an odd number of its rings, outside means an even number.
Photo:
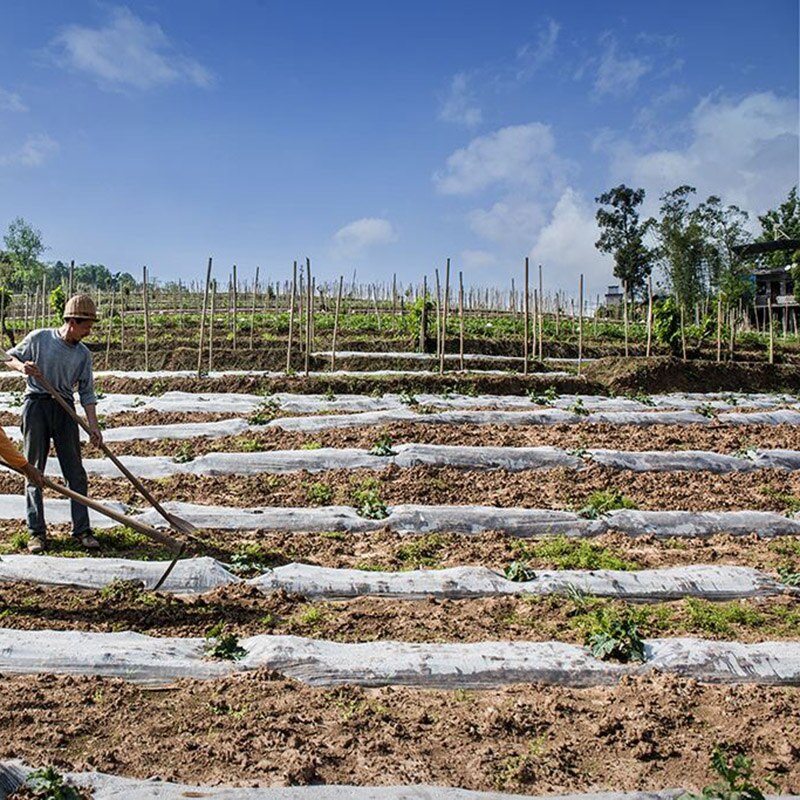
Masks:
[[[20,761],[0,761],[0,800],[18,789],[32,768]],[[92,793],[94,800],[675,800],[682,790],[603,792],[566,795],[521,795],[475,792],[447,786],[276,786],[264,788],[201,786],[160,780],[120,778],[101,772],[68,772],[72,784]],[[798,800],[795,795],[767,796],[767,800]]]

